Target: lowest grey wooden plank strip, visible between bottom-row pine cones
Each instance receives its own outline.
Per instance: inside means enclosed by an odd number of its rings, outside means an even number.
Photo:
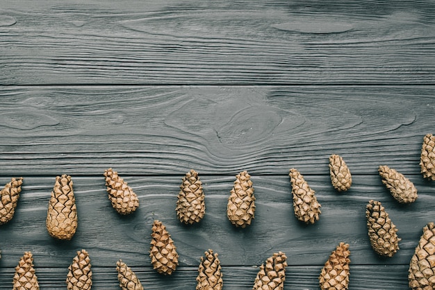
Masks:
[[[35,266],[41,289],[65,289],[66,268],[38,268]],[[318,275],[321,266],[289,266],[286,269],[284,289],[317,290]],[[174,275],[164,277],[149,268],[133,269],[145,289],[195,289],[197,268],[181,267]],[[252,289],[258,268],[223,267],[225,289]],[[381,265],[370,268],[350,266],[350,289],[407,289],[408,266],[391,266],[386,269]],[[13,280],[13,268],[0,268],[0,289],[10,289]],[[120,289],[114,267],[92,266],[92,289]]]

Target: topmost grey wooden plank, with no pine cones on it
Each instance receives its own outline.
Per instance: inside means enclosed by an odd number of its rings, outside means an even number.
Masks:
[[[433,1],[7,1],[0,84],[429,84]]]

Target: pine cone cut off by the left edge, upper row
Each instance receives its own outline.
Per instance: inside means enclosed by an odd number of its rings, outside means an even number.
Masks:
[[[21,192],[23,178],[12,178],[0,191],[0,225],[10,221],[15,214],[15,207]]]

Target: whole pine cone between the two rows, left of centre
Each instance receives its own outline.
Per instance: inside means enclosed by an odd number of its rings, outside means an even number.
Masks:
[[[171,275],[178,265],[178,253],[174,241],[161,221],[154,221],[152,231],[149,250],[151,264],[158,273]]]

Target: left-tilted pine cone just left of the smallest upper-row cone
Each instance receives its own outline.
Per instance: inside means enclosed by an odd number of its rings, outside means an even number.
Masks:
[[[292,184],[293,207],[295,207],[295,216],[299,221],[305,223],[315,223],[318,221],[320,211],[320,203],[315,198],[314,190],[311,189],[308,183],[304,180],[299,171],[290,169],[290,182]]]

